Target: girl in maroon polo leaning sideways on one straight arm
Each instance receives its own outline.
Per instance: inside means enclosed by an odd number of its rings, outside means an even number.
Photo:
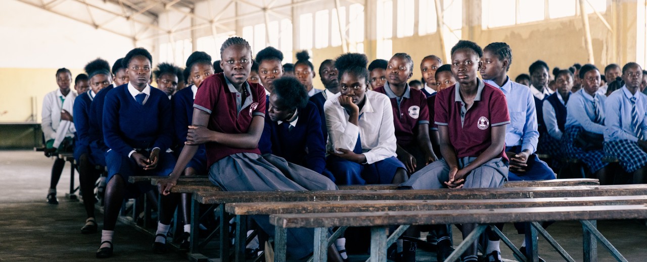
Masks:
[[[184,166],[201,144],[206,145],[209,179],[226,191],[334,190],[330,179],[308,168],[289,165],[285,159],[261,156],[258,141],[265,125],[265,88],[246,80],[252,67],[252,48],[241,37],[230,37],[220,49],[224,72],[204,79],[193,105],[193,125],[186,146],[169,178],[160,181],[164,195],[177,183]],[[272,233],[269,218],[253,217],[259,227]],[[313,230],[288,233],[287,255],[300,259],[313,252]],[[341,257],[334,248],[334,261]]]

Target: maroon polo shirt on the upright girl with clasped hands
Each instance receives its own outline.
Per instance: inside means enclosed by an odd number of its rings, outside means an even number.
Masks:
[[[435,123],[448,126],[450,143],[458,158],[478,157],[492,144],[492,126],[510,123],[503,92],[481,79],[478,81],[474,105],[469,110],[465,110],[458,83],[436,95]],[[505,146],[499,157],[507,159]]]

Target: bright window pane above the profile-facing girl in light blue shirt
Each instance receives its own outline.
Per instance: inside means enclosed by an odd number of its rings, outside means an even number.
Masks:
[[[483,0],[483,26],[492,28],[515,23],[516,0]]]

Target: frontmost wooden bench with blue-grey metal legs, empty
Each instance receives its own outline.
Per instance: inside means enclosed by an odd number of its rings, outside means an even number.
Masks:
[[[428,225],[452,223],[508,223],[532,222],[533,227],[537,221],[571,221],[578,220],[585,231],[585,261],[595,260],[592,255],[596,253],[591,238],[597,238],[604,247],[618,261],[626,261],[622,255],[600,234],[591,221],[598,219],[642,219],[647,218],[647,206],[642,205],[614,205],[614,206],[567,206],[567,207],[531,207],[531,208],[486,208],[473,210],[427,210],[427,211],[400,211],[400,212],[341,212],[312,214],[278,214],[270,216],[270,223],[276,227],[274,261],[285,261],[285,242],[287,228],[315,228],[314,261],[326,261],[327,234],[330,227],[372,227],[371,228],[371,258],[369,261],[386,262],[386,249],[388,239],[386,230],[389,225]],[[467,250],[468,245],[485,231],[488,225],[479,225],[468,237],[463,240],[446,261],[455,261],[460,254]],[[531,235],[537,232],[531,228]],[[534,238],[534,237],[533,237]],[[395,240],[395,239],[393,239]],[[594,244],[594,245],[587,245]],[[536,245],[533,243],[532,245]],[[531,261],[538,261],[536,247],[531,256]],[[597,256],[597,254],[595,254]],[[570,257],[569,257],[570,258]],[[572,258],[568,261],[574,261]]]

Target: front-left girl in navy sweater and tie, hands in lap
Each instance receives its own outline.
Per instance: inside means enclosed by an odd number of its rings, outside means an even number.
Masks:
[[[104,230],[96,257],[113,254],[116,219],[124,197],[150,190],[149,186],[127,183],[129,176],[166,176],[175,167],[171,146],[171,106],[164,92],[148,85],[151,54],[144,48],[128,52],[123,60],[129,75],[127,85],[113,88],[105,96],[104,139],[110,150],[105,155],[108,168],[105,192]],[[164,252],[166,233],[175,206],[170,196],[160,198],[160,222],[153,250]]]

